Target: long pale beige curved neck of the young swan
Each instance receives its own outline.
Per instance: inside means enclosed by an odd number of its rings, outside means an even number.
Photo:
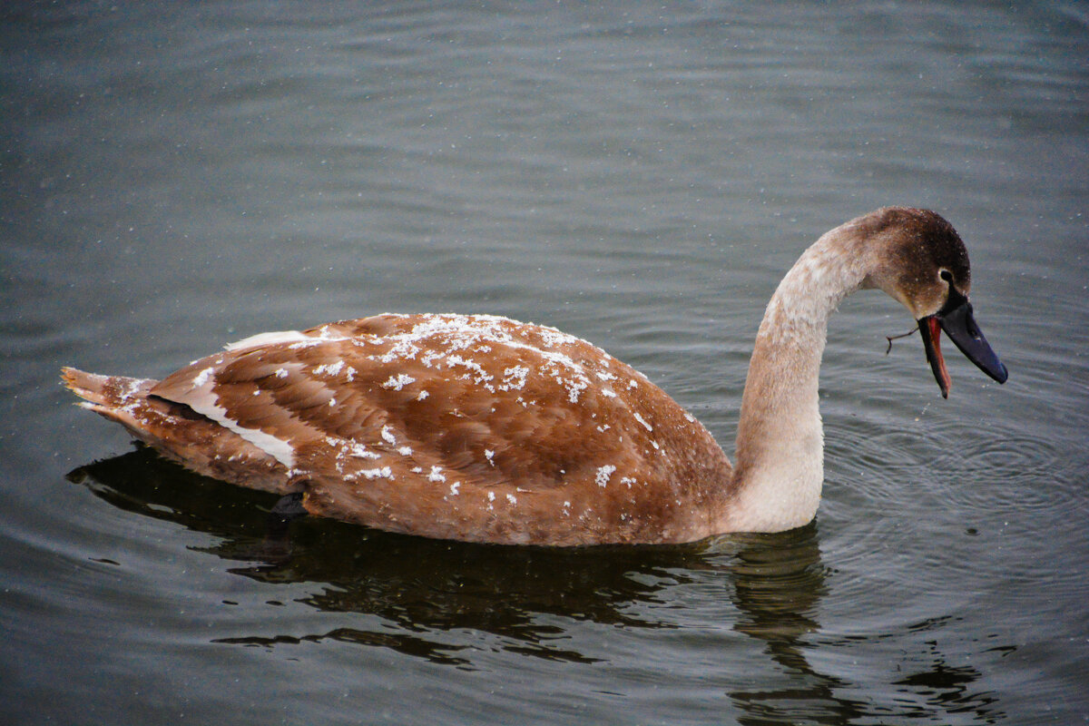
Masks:
[[[760,323],[737,428],[732,531],[782,531],[817,513],[824,479],[818,406],[828,318],[866,279],[860,241],[847,225],[794,264]]]

